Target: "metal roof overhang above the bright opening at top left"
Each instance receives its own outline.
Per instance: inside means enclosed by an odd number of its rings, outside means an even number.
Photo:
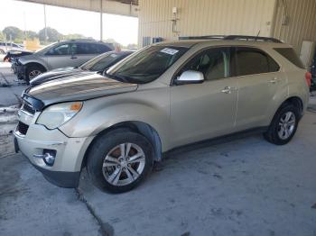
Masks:
[[[137,17],[138,0],[18,0],[42,5],[54,5],[106,14]]]

